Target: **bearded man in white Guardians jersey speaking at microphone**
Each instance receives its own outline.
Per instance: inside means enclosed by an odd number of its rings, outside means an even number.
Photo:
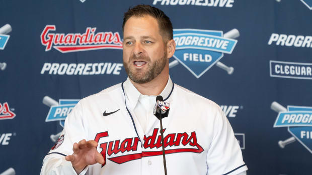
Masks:
[[[164,174],[160,123],[152,114],[158,95],[170,103],[163,118],[168,174],[246,174],[219,106],[169,77],[176,48],[169,18],[136,6],[125,13],[123,35],[128,79],[77,103],[41,174]]]

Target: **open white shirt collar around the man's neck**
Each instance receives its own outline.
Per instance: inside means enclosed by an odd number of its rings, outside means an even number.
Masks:
[[[128,98],[129,102],[131,103],[131,106],[136,106],[139,97],[142,95],[131,83],[129,80],[129,77],[127,80],[123,83],[124,89],[125,89],[125,95]],[[164,101],[168,99],[168,97],[171,95],[173,90],[174,84],[169,76],[168,82],[164,90],[161,92],[161,96],[163,96]],[[156,96],[155,96],[156,97]]]

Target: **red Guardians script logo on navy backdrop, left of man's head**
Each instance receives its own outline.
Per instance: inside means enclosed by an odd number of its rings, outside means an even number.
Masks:
[[[118,32],[98,32],[97,28],[87,27],[85,33],[52,33],[55,25],[46,25],[40,39],[45,51],[53,47],[61,53],[90,51],[98,49],[122,49],[122,40]]]

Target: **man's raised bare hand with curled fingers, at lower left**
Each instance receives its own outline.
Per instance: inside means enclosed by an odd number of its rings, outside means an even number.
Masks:
[[[98,152],[97,146],[98,142],[83,139],[73,144],[72,155],[67,155],[65,159],[71,161],[76,173],[79,174],[87,165],[95,163],[103,164],[105,162],[103,156]]]

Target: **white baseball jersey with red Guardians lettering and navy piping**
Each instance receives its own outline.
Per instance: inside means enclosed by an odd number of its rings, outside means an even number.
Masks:
[[[133,89],[134,88],[134,89]],[[160,94],[170,103],[163,118],[168,174],[239,174],[247,170],[232,128],[214,102],[171,79]],[[134,108],[139,92],[129,80],[82,99],[65,120],[57,143],[43,160],[41,174],[76,174],[65,155],[82,139],[97,141],[105,163],[80,174],[165,174],[160,122],[147,115],[143,129]]]

